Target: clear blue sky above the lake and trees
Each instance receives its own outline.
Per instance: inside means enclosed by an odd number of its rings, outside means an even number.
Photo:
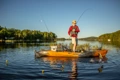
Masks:
[[[58,38],[69,38],[72,20],[78,21],[78,38],[120,30],[120,0],[0,0],[2,27],[51,31]]]

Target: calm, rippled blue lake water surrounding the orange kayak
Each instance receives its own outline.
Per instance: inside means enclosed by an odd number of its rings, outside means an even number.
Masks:
[[[69,44],[70,41],[57,43]],[[79,44],[99,42],[79,41]],[[48,49],[40,43],[0,44],[0,80],[38,79],[38,80],[119,80],[120,47],[104,44],[108,53],[102,63],[99,58],[35,58],[34,50]],[[101,68],[103,67],[103,68]]]

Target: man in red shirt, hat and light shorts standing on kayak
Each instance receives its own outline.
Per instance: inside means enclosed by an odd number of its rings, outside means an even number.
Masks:
[[[68,34],[72,38],[73,52],[75,52],[78,40],[78,32],[80,32],[79,27],[76,25],[76,20],[72,21],[72,25],[69,27]]]

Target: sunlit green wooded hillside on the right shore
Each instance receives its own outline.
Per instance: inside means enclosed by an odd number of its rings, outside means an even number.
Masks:
[[[111,41],[120,41],[120,30],[113,33],[103,34],[98,37],[99,41],[108,41],[108,39]]]

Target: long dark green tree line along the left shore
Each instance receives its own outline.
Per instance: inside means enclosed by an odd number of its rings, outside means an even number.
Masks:
[[[53,32],[41,32],[40,30],[19,30],[0,26],[1,40],[54,40],[57,35]]]

